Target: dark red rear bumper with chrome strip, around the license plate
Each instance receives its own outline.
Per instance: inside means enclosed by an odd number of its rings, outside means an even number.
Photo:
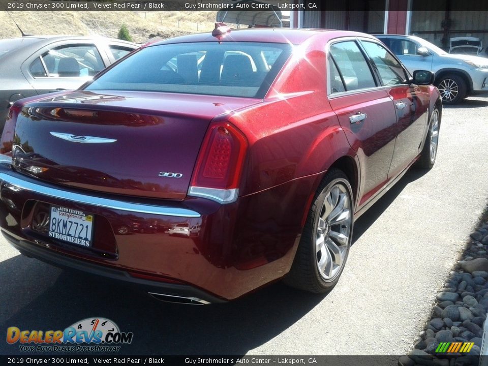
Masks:
[[[221,205],[199,197],[171,201],[72,190],[20,174],[9,163],[0,156],[0,228],[19,251],[148,292],[208,302],[237,298],[286,275],[315,184],[313,176],[300,178]],[[93,214],[93,246],[33,230],[42,205]],[[182,224],[189,235],[173,233]]]

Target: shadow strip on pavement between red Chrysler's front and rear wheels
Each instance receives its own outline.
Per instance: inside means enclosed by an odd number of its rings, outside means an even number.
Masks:
[[[400,195],[400,193],[402,193],[405,187],[427,172],[428,170],[416,169],[415,167],[410,168],[383,197],[368,209],[366,215],[359,217],[359,219],[354,222],[352,245],[354,245],[361,235],[364,234],[376,220],[378,220],[388,206]]]

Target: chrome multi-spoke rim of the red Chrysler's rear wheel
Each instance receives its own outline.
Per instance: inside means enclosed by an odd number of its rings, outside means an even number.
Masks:
[[[345,264],[351,228],[351,198],[347,188],[337,182],[325,195],[315,241],[317,268],[327,282],[332,281]]]

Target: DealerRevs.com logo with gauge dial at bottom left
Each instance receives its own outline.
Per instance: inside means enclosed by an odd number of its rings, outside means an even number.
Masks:
[[[105,318],[83,319],[65,330],[7,328],[7,343],[19,343],[22,352],[118,352],[121,344],[132,342],[133,336]]]

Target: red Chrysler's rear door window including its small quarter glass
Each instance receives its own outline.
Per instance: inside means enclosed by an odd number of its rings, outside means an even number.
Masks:
[[[346,91],[376,86],[368,62],[356,42],[334,43],[329,53],[342,75]]]

